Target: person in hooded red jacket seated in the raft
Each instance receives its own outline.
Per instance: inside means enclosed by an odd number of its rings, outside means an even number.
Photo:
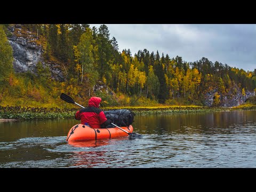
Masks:
[[[111,123],[107,119],[104,112],[99,109],[101,98],[91,97],[88,102],[88,107],[76,112],[75,119],[81,120],[84,125],[89,125],[92,128],[106,128]]]

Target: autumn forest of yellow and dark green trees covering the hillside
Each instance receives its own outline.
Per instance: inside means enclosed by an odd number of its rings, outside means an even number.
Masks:
[[[108,106],[205,105],[205,94],[217,90],[213,106],[220,96],[231,97],[239,89],[256,91],[256,69],[245,71],[226,63],[183,61],[182,55],[156,50],[118,49],[118,39],[110,38],[107,25],[23,24],[21,33],[43,47],[44,64],[35,63],[36,73],[17,73],[13,69],[13,50],[8,37],[14,24],[0,25],[0,106],[61,107],[60,94],[66,93],[86,103],[92,96]],[[171,46],[171,45],[170,45]],[[154,52],[155,51],[155,52]],[[58,63],[65,78],[52,78],[47,63]],[[95,85],[107,91],[94,91]],[[234,85],[237,85],[234,88]]]

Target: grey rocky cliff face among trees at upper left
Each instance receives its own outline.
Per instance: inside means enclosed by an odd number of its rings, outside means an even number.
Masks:
[[[64,81],[65,77],[59,64],[44,59],[44,50],[42,45],[36,43],[36,35],[32,34],[31,31],[22,30],[21,25],[13,25],[8,30],[11,34],[7,38],[13,48],[13,67],[15,72],[24,73],[30,71],[36,74],[36,63],[41,61],[43,66],[48,65],[50,67],[52,78],[57,81]],[[24,33],[26,35],[22,35]]]

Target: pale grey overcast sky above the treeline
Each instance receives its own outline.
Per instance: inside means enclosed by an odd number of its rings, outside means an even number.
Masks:
[[[99,29],[101,24],[90,24]],[[114,36],[119,51],[130,49],[158,50],[162,56],[177,55],[183,61],[199,61],[203,57],[213,63],[253,71],[256,68],[255,24],[105,24],[110,39]]]

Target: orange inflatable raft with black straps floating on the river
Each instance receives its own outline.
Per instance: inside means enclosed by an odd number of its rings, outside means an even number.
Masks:
[[[123,130],[132,133],[133,127],[121,127]],[[77,124],[71,127],[67,135],[67,141],[111,139],[128,137],[129,135],[117,127],[93,129],[84,124]]]

